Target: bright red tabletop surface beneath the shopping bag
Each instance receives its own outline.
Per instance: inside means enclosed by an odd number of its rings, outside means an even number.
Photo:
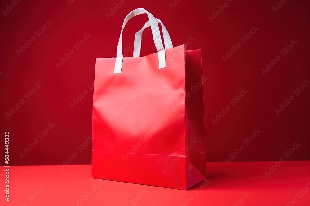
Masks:
[[[90,165],[70,165],[62,172],[58,166],[13,166],[10,168],[10,203],[2,204],[1,200],[1,205],[22,205],[26,202],[29,206],[72,206],[79,205],[77,201],[89,194],[88,199],[82,201],[82,206],[180,206],[180,204],[185,206],[186,200],[189,201],[190,197],[192,200],[188,205],[191,206],[234,206],[238,205],[235,201],[243,198],[245,192],[248,193],[248,197],[242,206],[286,206],[294,198],[298,200],[295,206],[308,206],[310,162],[283,162],[266,178],[264,172],[273,164],[273,162],[232,162],[229,165],[225,162],[207,163],[206,177],[209,179],[209,183],[205,182],[207,186],[200,183],[187,191],[108,180],[103,182],[104,180],[90,178]],[[307,185],[308,189],[304,189]],[[44,187],[42,192],[32,199],[30,195],[41,186]],[[303,189],[304,195],[299,192]],[[145,190],[145,194],[141,190]],[[141,199],[140,194],[143,195]],[[135,202],[133,198],[139,201]]]

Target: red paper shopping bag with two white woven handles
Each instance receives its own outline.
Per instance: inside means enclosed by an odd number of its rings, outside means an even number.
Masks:
[[[138,48],[123,58],[122,31],[140,14],[157,53],[139,57]],[[201,50],[172,48],[167,34],[165,50],[157,19],[136,9],[124,20],[117,57],[96,59],[95,79],[104,77],[94,86],[93,178],[177,189],[205,180]]]

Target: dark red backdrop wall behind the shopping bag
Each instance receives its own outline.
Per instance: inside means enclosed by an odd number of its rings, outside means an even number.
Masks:
[[[298,96],[294,89],[310,77],[309,72],[309,1],[287,1],[274,12],[276,1],[173,1],[128,0],[107,19],[105,13],[120,1],[75,1],[69,6],[62,1],[21,1],[1,19],[1,135],[10,132],[10,164],[62,164],[68,155],[91,135],[92,92],[87,85],[94,81],[95,58],[115,57],[123,19],[138,7],[145,8],[162,20],[173,45],[184,44],[194,38],[187,49],[202,49],[202,65],[207,82],[204,84],[206,158],[224,161],[230,153],[253,134],[262,131],[234,161],[279,160],[294,142],[301,144],[289,160],[306,160],[309,153],[309,93]],[[208,16],[224,2],[228,7],[212,22]],[[1,1],[6,9],[11,1]],[[45,20],[52,22],[39,37],[34,32]],[[134,34],[147,21],[146,15],[131,19],[123,33],[123,45],[134,40]],[[226,62],[222,56],[240,41],[241,36],[258,28],[246,43]],[[65,53],[84,37],[90,39],[59,69]],[[16,50],[35,36],[35,41],[20,56]],[[291,39],[298,43],[265,75],[270,59]],[[156,52],[151,34],[145,36],[141,56]],[[126,55],[132,55],[132,51]],[[7,119],[5,113],[24,98],[35,83],[42,87]],[[89,93],[73,109],[69,103],[79,92]],[[219,120],[211,122],[229,101],[245,89],[248,93]],[[295,99],[279,115],[275,109],[294,95]],[[22,159],[19,153],[38,139],[39,132],[55,124],[38,144]],[[78,152],[79,153],[79,152]],[[91,163],[91,145],[88,145],[74,164]],[[3,164],[1,162],[1,164]]]

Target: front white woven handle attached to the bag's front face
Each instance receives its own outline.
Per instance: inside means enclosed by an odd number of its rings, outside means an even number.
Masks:
[[[150,21],[150,25],[151,25],[151,29],[152,29],[155,47],[156,47],[157,52],[158,52],[159,69],[166,67],[165,49],[164,49],[164,46],[162,45],[162,38],[160,36],[158,23],[157,23],[155,17],[150,12],[146,11],[143,8],[138,8],[138,9],[131,11],[126,16],[126,18],[124,19],[122,30],[121,30],[121,35],[119,37],[118,44],[117,44],[114,74],[121,74],[121,71],[122,71],[122,63],[123,63],[122,35],[123,35],[124,27],[125,27],[125,25],[129,19],[131,19],[134,16],[140,15],[140,14],[147,14],[148,15],[148,19]]]

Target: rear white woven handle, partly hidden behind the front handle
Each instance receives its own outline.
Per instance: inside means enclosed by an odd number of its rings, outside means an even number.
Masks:
[[[173,48],[172,41],[171,41],[170,35],[169,35],[166,27],[164,26],[164,24],[162,23],[162,21],[160,19],[156,18],[156,20],[157,20],[158,23],[160,23],[162,25],[162,34],[164,36],[165,50]],[[144,26],[142,27],[142,29],[135,34],[135,44],[134,44],[134,54],[133,54],[133,57],[140,57],[142,33],[149,26],[151,26],[151,23],[150,23],[150,21],[147,21],[144,24]]]

